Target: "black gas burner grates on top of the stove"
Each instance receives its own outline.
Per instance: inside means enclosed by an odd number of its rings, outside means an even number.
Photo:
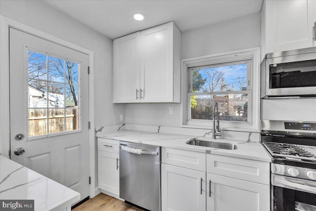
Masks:
[[[296,144],[263,142],[263,145],[268,149],[273,157],[280,157],[288,160],[316,162],[316,156],[314,154]]]

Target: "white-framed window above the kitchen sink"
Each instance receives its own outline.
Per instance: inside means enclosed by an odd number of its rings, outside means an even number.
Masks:
[[[217,102],[223,129],[258,130],[258,55],[252,49],[183,60],[183,126],[212,127]]]

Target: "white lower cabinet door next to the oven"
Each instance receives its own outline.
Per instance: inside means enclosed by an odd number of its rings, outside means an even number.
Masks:
[[[206,173],[206,182],[207,211],[270,210],[269,185],[211,173]]]

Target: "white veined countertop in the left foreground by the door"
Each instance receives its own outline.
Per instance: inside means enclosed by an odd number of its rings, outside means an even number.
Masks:
[[[34,200],[35,211],[61,211],[80,194],[0,155],[0,199]]]

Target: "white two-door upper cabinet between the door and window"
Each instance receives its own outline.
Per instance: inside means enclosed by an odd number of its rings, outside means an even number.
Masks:
[[[113,102],[180,102],[180,54],[173,22],[114,40]]]

